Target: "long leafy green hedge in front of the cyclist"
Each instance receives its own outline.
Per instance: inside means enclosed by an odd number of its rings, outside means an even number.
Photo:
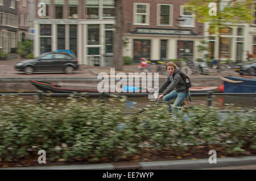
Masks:
[[[179,153],[188,150],[188,144],[217,144],[235,154],[256,148],[255,110],[235,113],[241,108],[230,107],[221,115],[217,108],[201,105],[189,110],[192,114],[185,120],[183,110],[170,114],[167,105],[139,115],[123,114],[126,98],[117,97],[101,102],[70,96],[66,101],[46,98],[37,103],[1,96],[0,101],[4,161],[37,158],[41,149],[51,161],[117,161],[148,148]]]

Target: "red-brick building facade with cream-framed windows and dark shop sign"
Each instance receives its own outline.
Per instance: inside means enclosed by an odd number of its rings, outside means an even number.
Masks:
[[[202,58],[197,45],[204,39],[204,24],[185,11],[186,0],[123,1],[124,36],[123,54],[133,60],[141,57]],[[179,21],[183,19],[183,21]]]

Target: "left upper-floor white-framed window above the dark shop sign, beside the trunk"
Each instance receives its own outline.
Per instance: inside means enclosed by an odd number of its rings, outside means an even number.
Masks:
[[[134,24],[149,25],[149,4],[134,3]]]

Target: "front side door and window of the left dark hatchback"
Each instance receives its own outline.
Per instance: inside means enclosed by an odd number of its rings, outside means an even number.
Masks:
[[[36,71],[49,71],[52,69],[53,64],[53,53],[47,54],[46,56],[40,57],[35,64]]]

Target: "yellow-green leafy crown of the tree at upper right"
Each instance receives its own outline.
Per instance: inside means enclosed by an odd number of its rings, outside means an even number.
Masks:
[[[209,23],[209,32],[220,35],[221,28],[225,27],[226,23],[237,24],[238,21],[251,24],[254,18],[251,7],[251,0],[189,0],[188,12],[195,13],[197,22]],[[216,13],[215,13],[215,12]]]

